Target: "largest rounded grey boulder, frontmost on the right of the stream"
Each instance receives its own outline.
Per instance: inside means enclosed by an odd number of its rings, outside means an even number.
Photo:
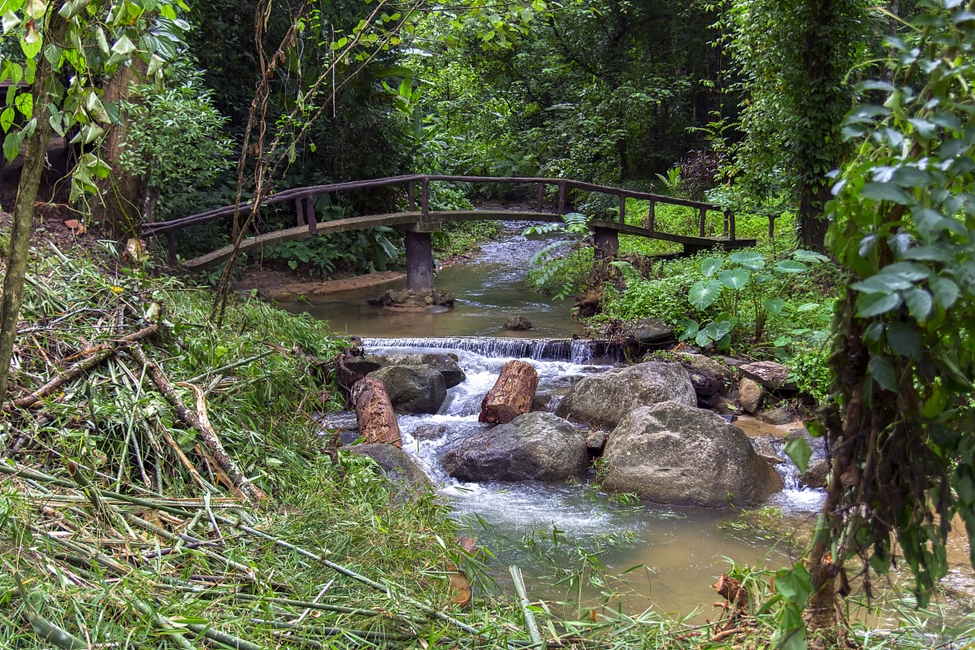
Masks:
[[[783,488],[741,429],[678,401],[631,411],[609,434],[603,457],[605,490],[656,503],[752,506]]]

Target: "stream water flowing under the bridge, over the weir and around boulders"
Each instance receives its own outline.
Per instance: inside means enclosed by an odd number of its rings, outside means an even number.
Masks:
[[[368,352],[438,352],[457,355],[467,380],[448,390],[436,415],[401,416],[404,449],[452,500],[457,516],[470,534],[496,556],[499,567],[517,563],[537,575],[545,570],[542,557],[584,556],[578,549],[600,552],[600,561],[612,574],[643,567],[626,574],[633,589],[626,607],[643,611],[688,614],[717,598],[710,587],[728,567],[728,558],[739,565],[784,563],[784,551],[774,541],[735,538],[717,527],[720,519],[736,511],[715,511],[644,503],[610,502],[591,484],[593,476],[571,482],[468,483],[449,478],[441,459],[458,440],[478,435],[489,426],[477,421],[481,400],[501,366],[520,358],[539,374],[538,394],[556,403],[573,378],[606,367],[588,358],[588,348],[578,343],[554,344],[546,339],[570,338],[581,333],[568,320],[571,305],[551,303],[525,287],[527,259],[544,243],[513,236],[485,247],[485,255],[473,262],[443,269],[438,288],[453,291],[456,305],[442,314],[390,314],[364,303],[387,287],[334,296],[295,305],[330,321],[333,330],[347,330],[364,338]],[[397,288],[402,287],[402,281]],[[523,338],[500,326],[509,315],[526,316],[534,328]],[[334,416],[332,425],[340,426]],[[351,415],[354,423],[354,415]],[[794,469],[794,468],[793,468]],[[775,503],[796,516],[816,511],[822,494],[801,490],[787,472],[788,488]],[[553,539],[559,542],[553,549]],[[626,543],[619,544],[620,540]],[[550,567],[549,567],[549,570]],[[499,571],[503,571],[499,569]],[[557,594],[553,594],[557,595]]]

